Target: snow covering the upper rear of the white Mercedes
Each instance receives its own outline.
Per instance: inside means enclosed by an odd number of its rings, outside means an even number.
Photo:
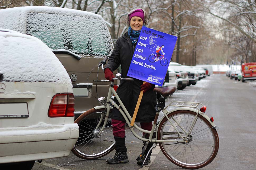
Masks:
[[[11,30],[3,31],[0,31],[3,81],[55,82],[72,86],[64,66],[41,40]]]

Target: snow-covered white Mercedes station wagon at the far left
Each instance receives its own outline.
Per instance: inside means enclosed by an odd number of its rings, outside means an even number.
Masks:
[[[72,83],[58,58],[41,40],[0,29],[0,169],[68,156],[78,136]]]

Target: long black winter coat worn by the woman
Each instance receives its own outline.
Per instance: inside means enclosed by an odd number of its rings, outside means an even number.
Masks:
[[[132,45],[131,40],[128,36],[128,32],[126,32],[122,37],[118,38],[116,41],[115,48],[109,57],[108,63],[105,68],[110,68],[111,71],[115,71],[119,65],[121,65],[122,75],[125,78],[131,78],[127,76],[127,72],[130,67],[130,63],[132,60],[132,56],[135,50],[135,46]],[[117,88],[117,94],[125,105],[127,111],[133,116],[139,94],[140,94],[140,86],[143,84],[142,80],[138,80],[134,78],[134,81],[120,81],[120,85]],[[154,120],[156,111],[155,105],[156,94],[153,91],[155,85],[143,94],[140,107],[135,119],[135,122],[151,122]],[[114,100],[117,102],[117,100]],[[113,108],[112,119],[125,121],[121,113]]]

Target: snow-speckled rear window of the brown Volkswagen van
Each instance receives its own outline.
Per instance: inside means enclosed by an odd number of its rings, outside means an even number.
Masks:
[[[104,20],[93,15],[31,12],[27,15],[26,33],[39,38],[50,49],[66,49],[81,56],[106,56],[112,51]]]

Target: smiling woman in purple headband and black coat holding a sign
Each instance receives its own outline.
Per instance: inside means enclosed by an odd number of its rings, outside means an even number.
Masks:
[[[129,29],[122,37],[118,38],[115,48],[104,69],[105,77],[110,81],[114,81],[112,79],[114,77],[113,71],[116,70],[119,65],[121,65],[122,75],[125,78],[129,78],[127,72],[140,35],[140,30],[143,25],[148,24],[148,17],[143,9],[135,9],[127,15],[126,21]],[[153,91],[154,87],[155,85],[151,83],[143,84],[143,81],[134,79],[133,82],[121,81],[116,91],[132,117],[140,91],[143,90],[144,94],[135,122],[140,122],[141,128],[149,131],[152,128],[152,121],[156,114],[156,94]],[[117,102],[117,100],[115,100],[115,102]],[[106,161],[110,164],[127,163],[129,160],[126,154],[127,148],[125,146],[125,120],[116,108],[113,108],[112,112],[112,125],[113,135],[116,142],[116,153],[113,158],[108,158]],[[145,156],[152,145],[153,143],[150,143],[146,148],[144,155],[140,159],[137,158],[137,164],[141,165],[143,163]],[[148,163],[150,163],[150,154],[145,161],[145,165]]]

